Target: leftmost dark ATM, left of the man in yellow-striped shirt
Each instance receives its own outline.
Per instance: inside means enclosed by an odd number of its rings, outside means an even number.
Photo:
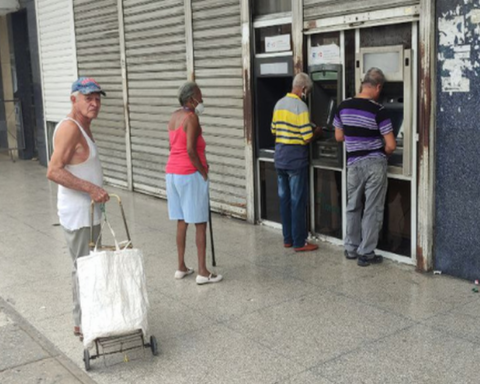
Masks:
[[[280,56],[255,58],[254,63],[255,157],[259,219],[264,222],[281,223],[277,173],[273,162],[275,138],[270,127],[275,104],[292,89],[293,61],[291,56]]]

